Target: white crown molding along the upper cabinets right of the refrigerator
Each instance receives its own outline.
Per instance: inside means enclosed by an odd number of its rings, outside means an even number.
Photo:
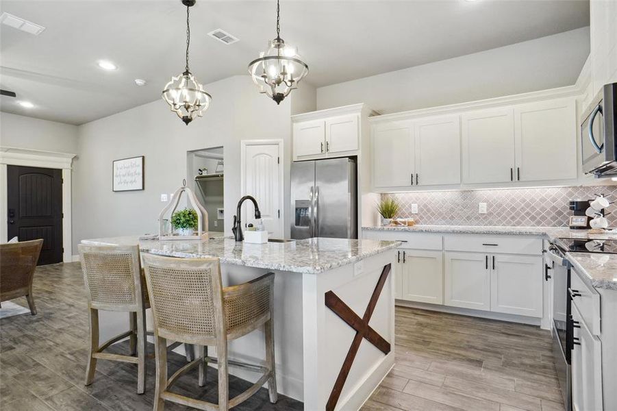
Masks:
[[[585,84],[581,82],[574,86],[566,86],[559,88],[550,88],[549,90],[540,90],[526,92],[518,95],[510,95],[503,97],[494,97],[492,99],[483,99],[477,101],[467,101],[465,103],[455,103],[449,105],[440,105],[437,107],[420,108],[417,110],[407,110],[404,112],[396,112],[391,114],[381,114],[379,116],[371,116],[368,121],[376,124],[383,121],[393,121],[399,119],[416,119],[419,117],[437,116],[440,114],[458,114],[464,111],[481,110],[483,108],[497,108],[503,105],[515,105],[520,103],[531,103],[535,101],[558,99],[561,97],[577,97],[585,90]]]

